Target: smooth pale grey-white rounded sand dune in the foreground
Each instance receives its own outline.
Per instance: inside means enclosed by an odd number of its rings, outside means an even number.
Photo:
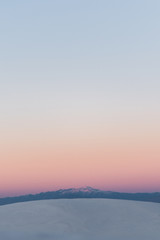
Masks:
[[[160,240],[160,204],[44,200],[0,207],[0,240]]]

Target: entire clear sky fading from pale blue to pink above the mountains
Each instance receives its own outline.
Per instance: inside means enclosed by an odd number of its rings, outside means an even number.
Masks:
[[[0,196],[160,191],[159,12],[0,1]]]

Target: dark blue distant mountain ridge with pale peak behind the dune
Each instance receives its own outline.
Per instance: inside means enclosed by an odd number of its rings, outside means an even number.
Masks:
[[[103,191],[91,187],[60,189],[51,192],[41,192],[38,194],[29,194],[16,197],[0,198],[0,205],[6,205],[17,202],[28,202],[45,199],[73,199],[73,198],[106,198],[106,199],[125,199],[144,202],[160,203],[160,192],[154,193],[121,193],[112,191]]]

